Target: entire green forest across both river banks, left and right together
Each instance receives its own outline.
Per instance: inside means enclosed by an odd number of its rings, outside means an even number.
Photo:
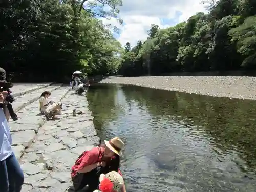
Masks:
[[[88,76],[256,69],[256,1],[206,0],[197,13],[166,29],[152,24],[147,40],[122,47],[115,18],[122,0],[0,2],[1,65],[13,82],[67,81]]]

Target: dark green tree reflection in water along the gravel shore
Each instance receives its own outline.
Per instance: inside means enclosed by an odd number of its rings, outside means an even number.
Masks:
[[[182,118],[203,126],[216,147],[225,151],[234,145],[250,167],[256,166],[256,102],[135,86],[124,86],[123,92],[127,100],[146,103],[154,117]]]

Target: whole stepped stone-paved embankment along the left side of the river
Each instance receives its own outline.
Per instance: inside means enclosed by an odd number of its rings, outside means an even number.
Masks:
[[[44,86],[44,85],[41,85]],[[13,87],[13,93],[16,91]],[[23,192],[65,192],[71,185],[71,166],[78,155],[98,144],[85,96],[69,87],[47,84],[44,88],[17,94],[14,108],[19,119],[10,120],[12,146],[25,175]],[[51,99],[63,103],[59,119],[49,120],[39,113],[40,94],[51,91]],[[73,109],[83,111],[73,116]]]

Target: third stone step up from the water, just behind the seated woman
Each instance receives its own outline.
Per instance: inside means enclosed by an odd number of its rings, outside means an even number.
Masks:
[[[29,93],[26,93],[22,96],[15,97],[15,101],[12,103],[13,109],[17,112],[21,110],[22,108],[25,108],[25,106],[29,105],[30,103],[38,100],[40,98],[40,95],[44,91],[54,91],[58,88],[60,88],[63,84],[53,84],[52,86],[44,87],[37,89],[35,91],[31,91]]]

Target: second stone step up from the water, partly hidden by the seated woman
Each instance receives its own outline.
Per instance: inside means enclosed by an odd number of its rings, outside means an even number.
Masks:
[[[61,101],[69,89],[69,87],[60,87],[52,92],[51,99],[55,102]],[[10,120],[9,122],[13,151],[17,159],[20,159],[25,148],[31,145],[39,128],[46,122],[46,118],[39,112],[38,100],[17,112],[19,117],[17,121]]]

